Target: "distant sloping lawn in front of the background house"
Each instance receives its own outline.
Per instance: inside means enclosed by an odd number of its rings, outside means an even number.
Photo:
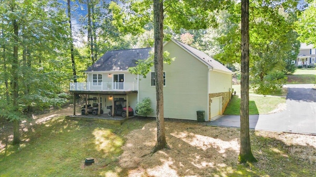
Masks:
[[[316,84],[316,68],[296,69],[296,71],[287,75],[286,84]]]

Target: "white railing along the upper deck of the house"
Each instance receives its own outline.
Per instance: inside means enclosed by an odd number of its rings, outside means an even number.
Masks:
[[[138,90],[137,83],[101,82],[101,83],[70,83],[70,90],[86,91],[130,91]]]

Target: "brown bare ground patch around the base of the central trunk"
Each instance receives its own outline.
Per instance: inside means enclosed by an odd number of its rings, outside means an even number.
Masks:
[[[156,122],[126,136],[119,164],[130,169],[130,177],[207,176],[225,164],[236,165],[239,152],[237,129],[184,122],[166,122],[165,127],[170,149],[155,154],[146,155],[156,144]],[[198,169],[203,170],[198,172]]]

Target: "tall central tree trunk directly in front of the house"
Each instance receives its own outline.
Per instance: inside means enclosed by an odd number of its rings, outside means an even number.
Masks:
[[[167,148],[163,117],[163,0],[154,0],[155,78],[157,100],[157,144],[152,153]]]

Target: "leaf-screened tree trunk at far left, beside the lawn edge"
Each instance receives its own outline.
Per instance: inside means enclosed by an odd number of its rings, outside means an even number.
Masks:
[[[15,1],[13,1],[11,11],[15,12]],[[12,20],[13,31],[14,31],[14,44],[13,44],[13,59],[12,59],[12,91],[13,91],[13,108],[18,111],[18,98],[19,98],[19,61],[18,61],[18,50],[19,50],[19,26],[15,19]],[[13,119],[13,145],[20,143],[20,120],[19,118]]]

